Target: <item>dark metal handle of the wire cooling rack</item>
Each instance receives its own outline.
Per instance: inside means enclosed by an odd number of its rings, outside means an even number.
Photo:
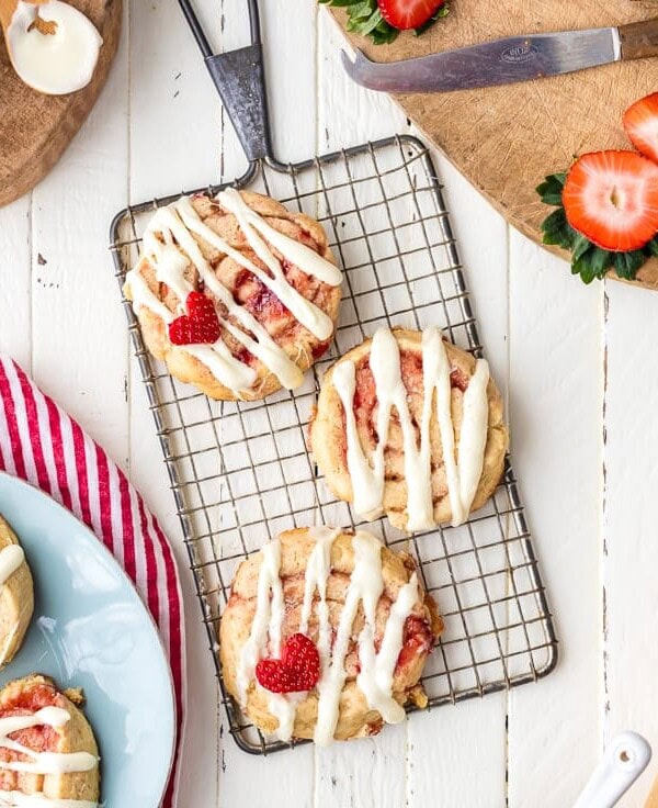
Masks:
[[[251,162],[272,156],[258,0],[247,0],[251,44],[214,54],[190,0],[179,0],[211,78]]]

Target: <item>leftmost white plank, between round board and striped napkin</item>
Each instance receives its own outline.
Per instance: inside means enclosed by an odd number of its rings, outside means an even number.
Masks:
[[[0,209],[0,350],[32,366],[32,194]]]

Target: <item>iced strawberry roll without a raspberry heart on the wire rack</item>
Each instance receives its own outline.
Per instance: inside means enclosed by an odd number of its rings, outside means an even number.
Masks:
[[[309,442],[337,497],[412,531],[460,525],[485,504],[508,431],[484,359],[438,328],[383,328],[325,374]]]

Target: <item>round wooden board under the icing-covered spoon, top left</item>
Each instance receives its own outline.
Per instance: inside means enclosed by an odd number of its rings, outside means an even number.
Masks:
[[[91,82],[69,96],[44,96],[14,72],[0,35],[0,205],[22,197],[53,168],[93,106],[116,53],[122,0],[69,0],[103,37]]]

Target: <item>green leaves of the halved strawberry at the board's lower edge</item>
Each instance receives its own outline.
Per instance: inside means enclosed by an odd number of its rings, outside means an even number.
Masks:
[[[604,278],[609,270],[614,270],[624,280],[634,280],[638,269],[651,256],[658,258],[658,234],[642,249],[628,252],[613,252],[597,247],[567,221],[561,201],[566,179],[566,173],[554,173],[536,188],[542,202],[556,209],[542,223],[543,243],[568,250],[571,254],[571,273],[580,276],[583,283]]]

